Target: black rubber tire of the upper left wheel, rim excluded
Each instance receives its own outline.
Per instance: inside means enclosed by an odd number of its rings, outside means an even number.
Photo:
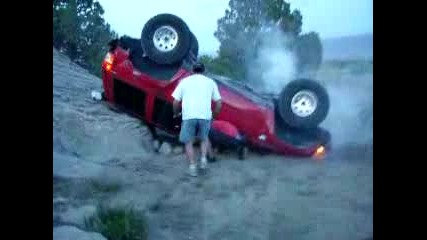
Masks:
[[[176,31],[178,42],[173,50],[162,52],[153,42],[153,37],[160,27],[169,26]],[[182,61],[190,49],[191,34],[187,24],[179,17],[172,14],[159,14],[152,17],[144,25],[141,32],[141,45],[144,53],[153,62],[171,65]]]

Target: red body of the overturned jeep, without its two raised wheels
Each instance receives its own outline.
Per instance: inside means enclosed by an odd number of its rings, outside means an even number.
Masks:
[[[139,70],[129,55],[129,50],[115,46],[105,57],[102,63],[104,99],[129,110],[147,125],[178,136],[181,120],[172,117],[171,94],[184,77],[192,74],[190,68],[182,64],[171,78],[160,79],[149,71]],[[250,91],[236,81],[209,76],[218,83],[222,96],[222,110],[213,122],[214,133],[251,148],[285,155],[322,156],[329,149],[330,135],[326,130],[318,128],[307,133],[282,127],[278,134],[273,99]],[[212,139],[213,144],[220,141],[224,138]]]

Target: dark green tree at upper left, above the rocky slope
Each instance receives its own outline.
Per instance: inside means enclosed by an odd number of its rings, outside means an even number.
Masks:
[[[53,46],[97,75],[108,41],[117,37],[103,14],[93,0],[53,1]]]

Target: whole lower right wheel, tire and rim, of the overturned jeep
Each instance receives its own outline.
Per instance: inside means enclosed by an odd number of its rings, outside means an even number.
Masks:
[[[315,128],[329,112],[329,96],[318,82],[299,79],[282,90],[278,107],[281,118],[289,126]]]

